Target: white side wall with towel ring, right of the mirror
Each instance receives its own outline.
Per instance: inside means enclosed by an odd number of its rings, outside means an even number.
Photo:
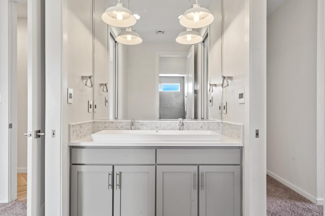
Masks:
[[[223,120],[245,123],[245,104],[238,103],[238,90],[247,88],[245,78],[248,72],[245,26],[245,2],[242,0],[223,1],[223,75],[233,76],[229,87],[223,89],[223,101],[227,102],[227,113]]]

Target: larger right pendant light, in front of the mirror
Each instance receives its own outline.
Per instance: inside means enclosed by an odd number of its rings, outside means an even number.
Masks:
[[[202,28],[210,25],[214,20],[211,12],[202,8],[196,0],[196,4],[193,4],[192,8],[184,12],[180,17],[179,23],[186,28]]]

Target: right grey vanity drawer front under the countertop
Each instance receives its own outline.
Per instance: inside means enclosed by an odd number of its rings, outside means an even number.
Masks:
[[[157,149],[158,164],[241,164],[240,149]]]

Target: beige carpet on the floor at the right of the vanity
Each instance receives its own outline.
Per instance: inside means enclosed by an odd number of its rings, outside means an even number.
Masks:
[[[323,206],[316,205],[295,191],[267,176],[268,216],[316,216],[323,215]]]

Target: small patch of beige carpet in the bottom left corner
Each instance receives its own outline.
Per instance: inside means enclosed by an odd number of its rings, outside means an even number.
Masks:
[[[25,216],[27,214],[26,202],[0,203],[1,216]]]

